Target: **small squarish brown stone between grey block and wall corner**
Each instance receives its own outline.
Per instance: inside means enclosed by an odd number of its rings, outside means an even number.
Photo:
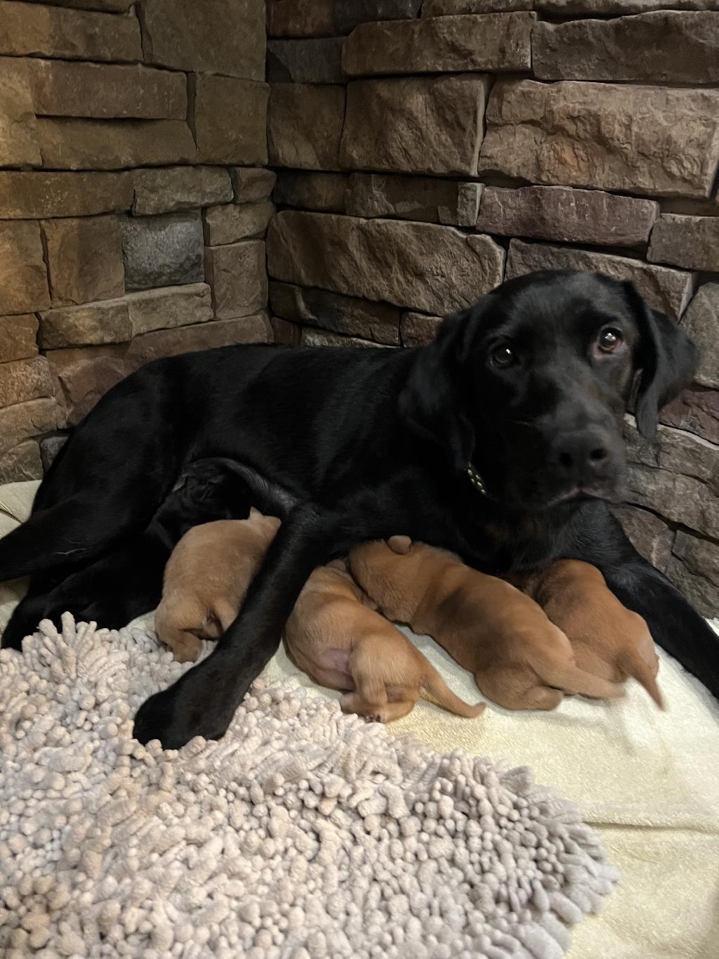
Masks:
[[[205,272],[212,287],[215,316],[219,319],[249,316],[267,306],[264,241],[208,246]]]

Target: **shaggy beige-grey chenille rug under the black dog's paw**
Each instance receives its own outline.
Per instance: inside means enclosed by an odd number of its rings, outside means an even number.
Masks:
[[[555,959],[615,883],[577,807],[260,681],[220,742],[132,716],[187,668],[142,630],[0,653],[0,954]]]

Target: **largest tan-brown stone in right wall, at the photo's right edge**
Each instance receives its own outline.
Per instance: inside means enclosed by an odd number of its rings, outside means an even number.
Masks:
[[[719,162],[719,90],[499,81],[486,119],[479,170],[534,183],[707,197]]]

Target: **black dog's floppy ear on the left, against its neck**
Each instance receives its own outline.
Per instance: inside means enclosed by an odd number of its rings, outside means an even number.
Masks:
[[[415,433],[445,446],[457,472],[467,469],[475,448],[475,431],[459,390],[470,313],[463,310],[444,320],[435,339],[417,352],[400,393],[400,414]]]

